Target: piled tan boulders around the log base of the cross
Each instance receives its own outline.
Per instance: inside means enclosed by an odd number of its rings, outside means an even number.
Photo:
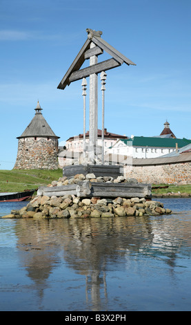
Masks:
[[[137,183],[136,179],[118,176],[116,179],[109,176],[95,177],[94,174],[77,174],[72,178],[66,176],[54,180],[48,187],[77,184],[81,180],[109,183]],[[73,194],[65,196],[34,196],[26,207],[21,210],[12,210],[2,218],[108,218],[125,216],[159,216],[170,214],[172,211],[163,207],[159,201],[148,201],[145,198],[79,198]]]

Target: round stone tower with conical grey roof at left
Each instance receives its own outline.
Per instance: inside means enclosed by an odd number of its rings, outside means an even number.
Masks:
[[[18,143],[14,169],[57,169],[58,139],[41,113],[37,103],[35,115]]]

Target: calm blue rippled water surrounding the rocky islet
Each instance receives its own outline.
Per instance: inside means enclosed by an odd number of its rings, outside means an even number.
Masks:
[[[160,201],[174,213],[0,219],[0,310],[191,310],[191,199]]]

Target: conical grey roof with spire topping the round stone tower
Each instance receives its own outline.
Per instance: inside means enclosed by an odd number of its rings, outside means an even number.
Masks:
[[[37,104],[36,111],[34,118],[32,118],[32,121],[30,124],[28,124],[28,127],[26,127],[25,131],[19,136],[19,138],[28,138],[33,136],[46,136],[46,137],[54,137],[59,138],[56,136],[56,134],[52,131],[48,123],[46,122],[45,118],[43,117],[41,111],[41,106]]]

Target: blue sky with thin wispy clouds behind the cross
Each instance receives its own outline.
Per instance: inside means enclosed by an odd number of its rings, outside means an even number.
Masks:
[[[81,80],[57,86],[85,43],[86,28],[101,30],[136,64],[106,71],[105,128],[159,136],[168,120],[177,138],[191,138],[190,0],[0,0],[0,169],[14,167],[17,137],[38,100],[60,142],[83,133]],[[108,58],[103,53],[99,62]],[[86,103],[88,131],[88,96]]]

